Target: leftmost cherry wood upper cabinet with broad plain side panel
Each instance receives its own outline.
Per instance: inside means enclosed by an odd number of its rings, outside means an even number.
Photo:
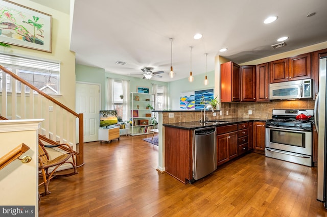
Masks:
[[[233,62],[220,65],[221,102],[241,101],[240,66]]]

